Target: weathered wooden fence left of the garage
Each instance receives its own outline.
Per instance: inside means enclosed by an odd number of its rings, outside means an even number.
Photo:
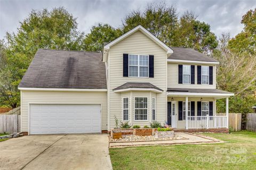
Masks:
[[[0,115],[0,133],[20,132],[20,115]]]

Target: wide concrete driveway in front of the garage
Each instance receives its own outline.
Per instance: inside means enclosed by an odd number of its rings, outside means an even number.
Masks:
[[[112,169],[107,134],[29,135],[0,142],[0,169]]]

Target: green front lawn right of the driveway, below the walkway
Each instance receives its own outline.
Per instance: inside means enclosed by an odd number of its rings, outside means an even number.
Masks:
[[[255,169],[256,133],[204,133],[227,143],[111,148],[114,169]]]

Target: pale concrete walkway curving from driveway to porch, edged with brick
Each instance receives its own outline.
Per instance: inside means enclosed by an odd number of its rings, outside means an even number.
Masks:
[[[110,143],[110,148],[122,148],[122,147],[132,147],[132,146],[151,146],[151,145],[182,145],[182,144],[203,144],[203,143],[222,143],[223,141],[206,137],[201,134],[193,134],[186,132],[175,132],[186,139],[180,140],[167,140],[167,141],[145,141],[145,142],[115,142]]]

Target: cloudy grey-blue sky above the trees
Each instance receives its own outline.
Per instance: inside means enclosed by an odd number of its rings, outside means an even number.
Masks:
[[[0,39],[6,31],[15,32],[19,21],[23,21],[32,9],[41,10],[64,6],[77,18],[78,29],[90,32],[92,25],[108,23],[119,27],[125,14],[141,9],[153,1],[3,1],[0,0]],[[211,30],[220,37],[223,32],[231,36],[243,30],[242,16],[256,7],[255,1],[166,1],[174,4],[179,15],[184,11],[193,11],[198,20],[211,25]]]

